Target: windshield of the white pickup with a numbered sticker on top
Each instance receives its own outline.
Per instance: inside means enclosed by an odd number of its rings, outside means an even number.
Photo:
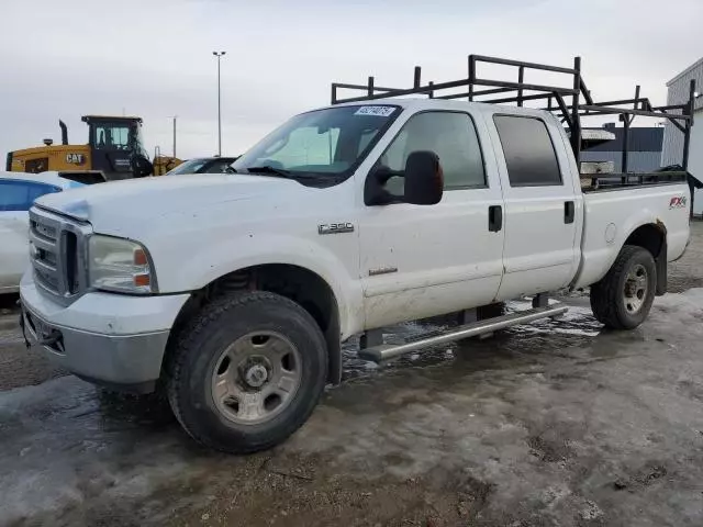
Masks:
[[[269,134],[232,167],[267,167],[292,176],[342,176],[361,162],[400,114],[392,105],[337,106],[303,113]]]

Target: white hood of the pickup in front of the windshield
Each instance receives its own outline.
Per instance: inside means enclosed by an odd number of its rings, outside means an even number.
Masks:
[[[212,205],[266,199],[279,193],[304,192],[295,181],[264,176],[193,175],[163,176],[111,181],[45,194],[36,204],[93,226],[144,222],[156,216],[197,212]]]

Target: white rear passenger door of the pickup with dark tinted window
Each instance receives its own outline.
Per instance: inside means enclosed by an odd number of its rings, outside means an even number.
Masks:
[[[578,268],[581,221],[561,133],[536,115],[487,115],[505,200],[505,274],[498,296],[560,289]]]

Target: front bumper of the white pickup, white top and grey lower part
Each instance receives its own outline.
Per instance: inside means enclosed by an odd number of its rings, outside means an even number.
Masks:
[[[27,272],[20,298],[25,334],[52,362],[94,383],[145,392],[159,378],[170,328],[189,295],[90,292],[64,306]]]

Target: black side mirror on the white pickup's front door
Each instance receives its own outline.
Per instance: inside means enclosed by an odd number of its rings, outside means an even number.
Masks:
[[[405,161],[405,203],[436,205],[444,193],[444,173],[439,156],[434,152],[419,150]]]

